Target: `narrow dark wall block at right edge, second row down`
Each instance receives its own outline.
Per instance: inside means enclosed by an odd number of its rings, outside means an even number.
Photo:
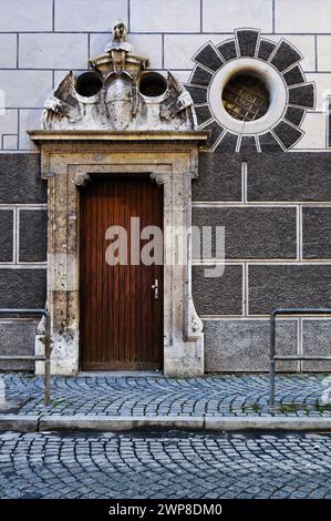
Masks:
[[[303,207],[303,257],[331,258],[331,208]]]

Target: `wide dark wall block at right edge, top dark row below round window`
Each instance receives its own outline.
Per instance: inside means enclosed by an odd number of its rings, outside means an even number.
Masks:
[[[251,154],[249,201],[331,201],[330,154]]]

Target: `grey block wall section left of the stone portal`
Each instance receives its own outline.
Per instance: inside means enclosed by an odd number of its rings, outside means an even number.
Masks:
[[[0,154],[0,308],[44,307],[46,186],[39,154]],[[0,353],[32,355],[35,320],[0,319]],[[1,362],[0,369],[33,369]]]

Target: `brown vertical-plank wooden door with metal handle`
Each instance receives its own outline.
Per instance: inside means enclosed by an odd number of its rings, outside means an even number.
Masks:
[[[83,370],[159,369],[163,360],[163,266],[134,264],[131,217],[163,229],[163,193],[147,177],[96,177],[80,200],[80,359]],[[127,233],[127,265],[110,265],[110,226]],[[153,237],[152,237],[153,238]],[[139,239],[143,247],[148,241]],[[163,241],[158,247],[163,249]],[[162,252],[163,253],[163,252]],[[153,252],[152,252],[153,254]],[[158,282],[158,298],[152,288]]]

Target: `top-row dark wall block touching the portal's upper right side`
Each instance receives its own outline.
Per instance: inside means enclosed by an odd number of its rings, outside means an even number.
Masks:
[[[194,201],[240,201],[241,161],[235,154],[201,152],[199,177],[192,183]]]

